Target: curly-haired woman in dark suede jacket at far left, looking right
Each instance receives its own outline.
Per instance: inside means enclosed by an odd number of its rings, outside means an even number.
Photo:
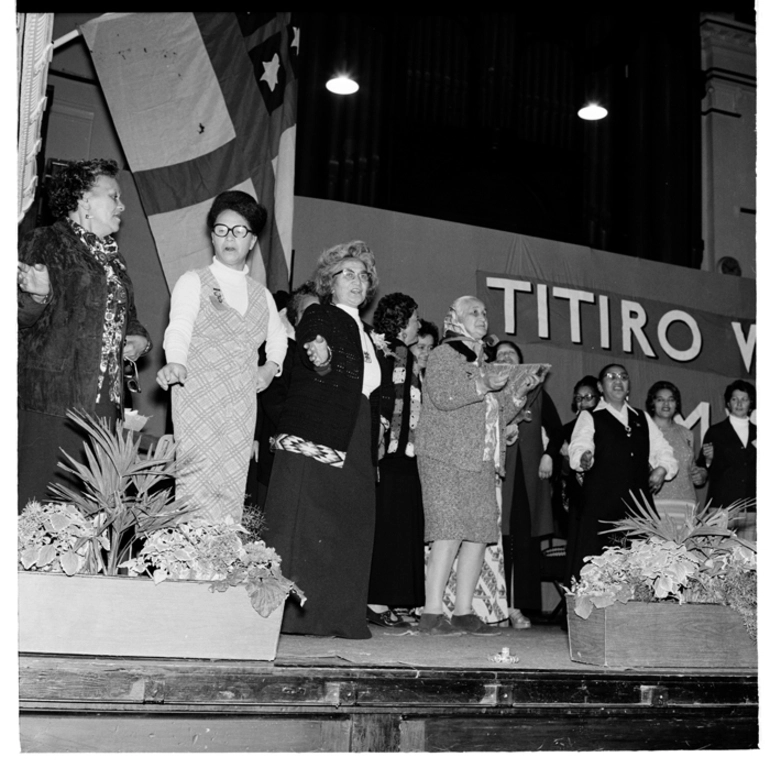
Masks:
[[[49,498],[60,449],[84,456],[85,435],[67,418],[81,409],[123,413],[124,361],[151,346],[114,234],[125,205],[113,160],[67,163],[49,183],[57,218],[23,238],[18,264],[19,506]]]

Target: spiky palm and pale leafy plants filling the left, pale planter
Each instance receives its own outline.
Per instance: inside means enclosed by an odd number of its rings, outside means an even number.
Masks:
[[[30,501],[18,520],[18,558],[24,570],[111,576],[149,575],[210,581],[212,591],[243,585],[254,609],[268,616],[298,587],[281,574],[281,559],[259,538],[262,512],[213,523],[174,500],[178,470],[173,446],[140,455],[138,433],[85,413],[68,415],[89,436],[86,463],[64,453],[59,466],[82,491],[52,486],[55,501]],[[164,482],[166,481],[166,482]],[[131,556],[132,553],[133,556]]]

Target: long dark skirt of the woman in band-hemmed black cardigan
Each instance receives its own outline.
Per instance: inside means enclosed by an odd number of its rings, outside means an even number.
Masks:
[[[342,468],[276,451],[265,501],[265,542],[307,601],[286,602],[287,634],[365,639],[374,539],[375,473],[369,401],[362,395]]]

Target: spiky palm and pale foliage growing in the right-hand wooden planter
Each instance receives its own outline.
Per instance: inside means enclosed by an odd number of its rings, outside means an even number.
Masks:
[[[725,513],[747,504],[688,509],[675,520],[634,500],[637,509],[611,531],[624,533],[630,546],[607,547],[587,558],[580,579],[567,590],[575,597],[575,613],[585,619],[594,607],[629,600],[716,603],[738,611],[756,637],[756,546],[721,525]]]

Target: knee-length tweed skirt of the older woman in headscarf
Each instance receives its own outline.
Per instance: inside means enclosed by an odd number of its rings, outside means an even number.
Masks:
[[[442,461],[417,457],[425,512],[425,541],[475,541],[489,544],[500,535],[495,467],[480,472],[458,469]]]

